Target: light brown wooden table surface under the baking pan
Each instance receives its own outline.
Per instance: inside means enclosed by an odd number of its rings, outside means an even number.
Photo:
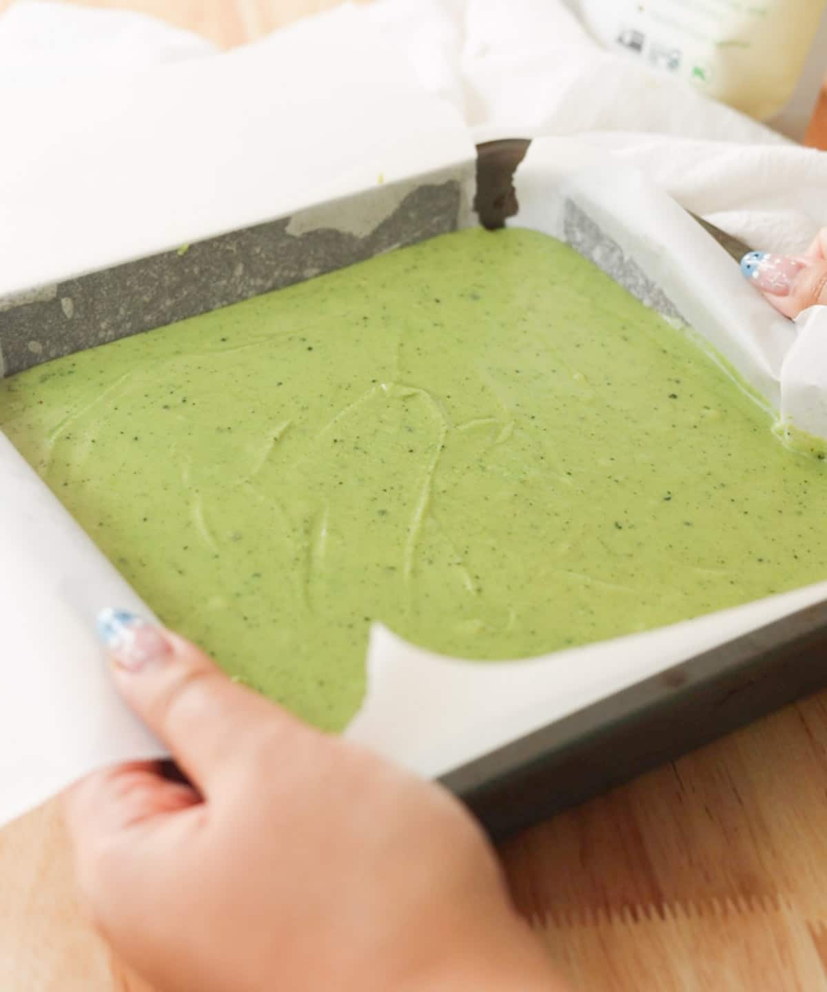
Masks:
[[[88,5],[230,46],[335,2]],[[812,136],[827,138],[827,113]],[[555,817],[503,858],[576,989],[827,990],[827,693]],[[0,992],[147,992],[77,911],[55,804],[0,833]]]

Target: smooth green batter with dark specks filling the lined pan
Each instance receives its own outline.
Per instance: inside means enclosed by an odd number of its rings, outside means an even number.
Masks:
[[[824,464],[526,231],[41,366],[0,426],[166,622],[329,728],[374,619],[515,658],[827,576]]]

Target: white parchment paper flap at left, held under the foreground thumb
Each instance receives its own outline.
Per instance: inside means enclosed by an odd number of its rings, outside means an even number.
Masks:
[[[73,778],[163,753],[112,691],[102,603],[151,617],[0,434],[0,822]]]

